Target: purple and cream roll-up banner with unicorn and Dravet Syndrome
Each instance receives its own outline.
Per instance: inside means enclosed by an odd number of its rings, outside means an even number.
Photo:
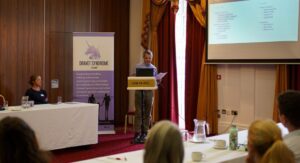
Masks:
[[[73,101],[98,103],[99,134],[115,133],[113,32],[73,33]]]

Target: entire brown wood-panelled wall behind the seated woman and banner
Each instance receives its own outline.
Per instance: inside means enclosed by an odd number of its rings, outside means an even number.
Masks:
[[[129,0],[0,0],[0,93],[19,105],[29,76],[41,74],[51,103],[72,100],[72,32],[115,32],[115,120],[122,124],[129,9]],[[51,88],[52,79],[59,88]]]

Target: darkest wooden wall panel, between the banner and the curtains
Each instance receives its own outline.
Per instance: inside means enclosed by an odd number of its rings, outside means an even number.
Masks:
[[[115,32],[115,121],[124,123],[128,110],[129,0],[91,0],[92,32]]]

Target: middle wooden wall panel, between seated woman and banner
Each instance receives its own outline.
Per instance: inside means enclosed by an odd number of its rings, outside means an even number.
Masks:
[[[48,90],[50,102],[57,96],[63,101],[72,100],[73,45],[72,32],[89,32],[90,1],[47,0],[46,1],[46,56]],[[59,80],[59,88],[51,89],[52,79]]]

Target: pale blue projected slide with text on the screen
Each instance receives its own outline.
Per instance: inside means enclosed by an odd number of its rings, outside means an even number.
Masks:
[[[209,44],[296,42],[299,0],[209,0]]]

